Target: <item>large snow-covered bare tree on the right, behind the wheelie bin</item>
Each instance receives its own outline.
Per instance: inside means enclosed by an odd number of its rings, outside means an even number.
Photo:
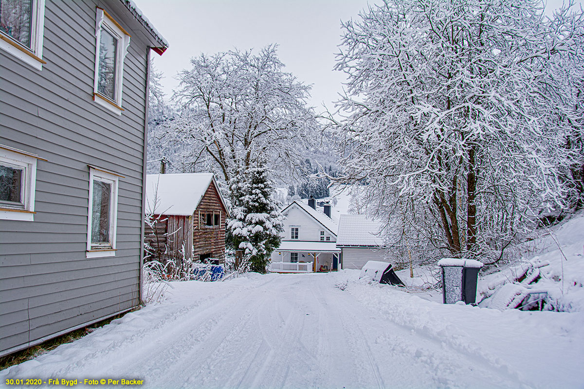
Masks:
[[[387,0],[343,23],[339,181],[367,181],[388,244],[496,261],[562,206],[582,13],[542,11],[538,0]],[[571,74],[559,77],[562,63]]]

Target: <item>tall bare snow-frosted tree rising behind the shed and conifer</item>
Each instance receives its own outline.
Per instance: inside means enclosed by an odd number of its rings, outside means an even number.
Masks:
[[[270,176],[289,176],[318,128],[307,105],[310,87],[283,71],[276,48],[201,54],[178,74],[180,115],[172,131],[189,142],[193,163],[225,183],[258,156],[269,158]]]

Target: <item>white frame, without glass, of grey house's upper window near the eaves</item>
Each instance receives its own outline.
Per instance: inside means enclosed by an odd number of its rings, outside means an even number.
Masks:
[[[98,92],[98,72],[99,72],[99,39],[102,29],[107,29],[108,32],[117,38],[117,52],[116,52],[116,75],[114,85],[114,100],[103,96]],[[93,101],[100,106],[107,108],[117,115],[121,115],[124,108],[121,107],[122,95],[122,81],[124,79],[124,59],[128,53],[128,46],[130,45],[130,34],[120,26],[112,16],[109,15],[102,8],[97,8],[95,19],[95,74],[93,76]]]

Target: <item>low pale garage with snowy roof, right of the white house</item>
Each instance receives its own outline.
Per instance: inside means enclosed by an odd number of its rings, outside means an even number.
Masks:
[[[340,215],[336,247],[341,251],[343,269],[361,269],[367,261],[388,262],[380,230],[380,223],[366,215]]]

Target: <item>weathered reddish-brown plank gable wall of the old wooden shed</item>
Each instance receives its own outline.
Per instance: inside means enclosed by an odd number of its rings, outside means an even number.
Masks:
[[[219,227],[206,227],[204,220],[199,218],[200,214],[211,212],[220,213]],[[207,253],[212,253],[213,258],[221,261],[225,259],[225,213],[217,188],[211,181],[193,215],[193,254],[195,259],[199,255]]]

